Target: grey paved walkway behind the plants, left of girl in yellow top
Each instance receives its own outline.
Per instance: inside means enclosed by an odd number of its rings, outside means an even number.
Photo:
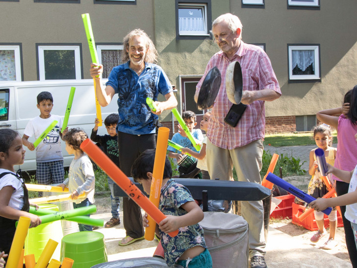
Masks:
[[[316,145],[282,146],[282,147],[264,145],[264,150],[266,152],[269,152],[270,154],[274,154],[274,153],[278,155],[283,154],[284,156],[287,156],[289,158],[290,157],[294,157],[295,159],[299,158],[300,164],[303,164],[301,167],[307,171],[310,151],[316,147],[317,147]],[[337,143],[333,144],[332,147],[337,147]]]

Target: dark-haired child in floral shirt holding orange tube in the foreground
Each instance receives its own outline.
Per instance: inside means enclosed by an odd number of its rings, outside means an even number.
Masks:
[[[146,150],[131,167],[131,176],[149,194],[154,159],[155,150]],[[178,264],[186,268],[211,268],[212,259],[204,241],[204,231],[198,224],[204,218],[204,213],[189,190],[171,177],[171,163],[166,157],[159,209],[167,217],[159,223],[158,228],[156,226],[165,261],[169,267]],[[149,226],[147,216],[143,216],[144,227]],[[178,230],[178,235],[170,237],[168,233],[175,230]]]

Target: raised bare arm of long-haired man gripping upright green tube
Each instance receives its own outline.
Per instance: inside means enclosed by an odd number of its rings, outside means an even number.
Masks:
[[[91,63],[91,68],[89,71],[91,77],[95,80],[96,83],[96,95],[98,98],[98,103],[102,107],[109,105],[115,94],[115,90],[110,85],[107,85],[106,87],[102,86],[103,65]]]

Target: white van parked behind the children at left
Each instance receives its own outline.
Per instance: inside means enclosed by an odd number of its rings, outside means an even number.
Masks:
[[[31,118],[40,115],[36,107],[37,95],[42,91],[49,91],[53,97],[53,108],[51,114],[64,117],[67,108],[68,97],[71,87],[76,87],[73,99],[71,115],[68,127],[79,127],[83,129],[88,137],[94,127],[96,118],[96,103],[94,97],[93,79],[84,80],[48,80],[48,81],[1,81],[0,82],[0,108],[5,107],[7,113],[0,115],[0,129],[8,128],[16,130],[22,136],[25,127]],[[101,107],[102,120],[110,113],[118,112],[118,95],[115,95],[107,107]],[[107,134],[104,123],[99,127],[98,134]],[[34,137],[28,139],[34,142]],[[65,142],[61,141],[64,166],[69,166],[73,156],[69,156],[65,150]],[[25,163],[21,165],[22,170],[36,170],[36,154],[25,147]],[[20,166],[15,166],[15,170]]]

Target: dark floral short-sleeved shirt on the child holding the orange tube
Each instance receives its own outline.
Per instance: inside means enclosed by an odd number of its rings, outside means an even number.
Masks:
[[[194,201],[190,191],[183,185],[176,183],[175,180],[170,179],[161,188],[159,209],[165,215],[181,216],[187,214],[187,211],[182,209],[181,205],[189,201]],[[161,231],[160,236],[165,261],[169,267],[173,266],[187,249],[197,245],[206,248],[204,230],[198,223],[179,228],[176,237],[170,237]]]

